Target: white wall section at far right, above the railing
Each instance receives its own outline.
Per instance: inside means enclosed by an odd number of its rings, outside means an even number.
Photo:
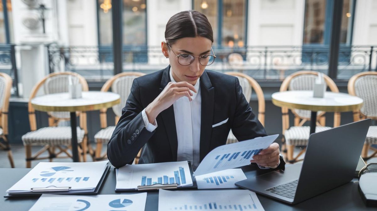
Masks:
[[[353,45],[377,45],[377,0],[356,1]]]

